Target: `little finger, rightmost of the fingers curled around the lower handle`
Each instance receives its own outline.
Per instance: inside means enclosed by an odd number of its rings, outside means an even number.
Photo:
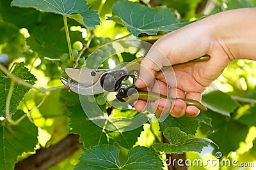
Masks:
[[[201,101],[202,94],[198,92],[188,92],[186,94],[186,99],[193,99],[196,101]],[[186,115],[188,117],[196,117],[200,113],[200,110],[196,108],[196,106],[187,106],[186,108]]]

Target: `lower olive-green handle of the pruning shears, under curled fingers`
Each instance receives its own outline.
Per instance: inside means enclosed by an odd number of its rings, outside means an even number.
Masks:
[[[187,106],[196,106],[196,108],[198,108],[200,110],[204,110],[204,111],[207,110],[207,108],[204,106],[204,104],[202,104],[198,101],[192,100],[192,99],[167,97],[167,96],[159,95],[154,92],[146,92],[146,91],[134,92],[133,94],[131,94],[131,96],[125,97],[124,101],[126,101],[127,103],[130,103],[131,101],[135,101],[137,99],[140,99],[143,101],[157,101],[158,99],[161,99],[161,98],[168,99],[170,101],[170,103],[173,103],[175,100],[180,99],[180,100],[184,101],[187,104]]]

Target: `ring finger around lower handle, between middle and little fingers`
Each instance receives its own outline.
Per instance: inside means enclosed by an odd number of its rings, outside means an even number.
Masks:
[[[169,96],[182,99],[185,96],[185,92],[180,89],[171,89]],[[172,117],[182,117],[185,115],[186,103],[181,99],[177,99],[172,103],[172,110],[170,111]]]

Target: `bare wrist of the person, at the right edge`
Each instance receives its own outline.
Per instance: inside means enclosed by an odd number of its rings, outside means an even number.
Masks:
[[[230,10],[209,17],[214,46],[235,59],[256,60],[256,8]]]

